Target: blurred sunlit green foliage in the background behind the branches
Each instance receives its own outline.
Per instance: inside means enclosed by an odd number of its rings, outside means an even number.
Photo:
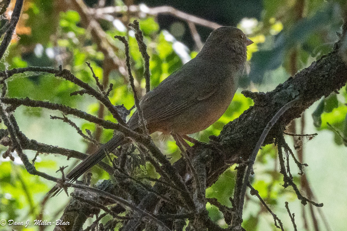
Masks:
[[[25,25],[31,28],[31,33],[20,35],[20,39],[13,42],[9,52],[0,64],[1,69],[12,69],[18,67],[53,66],[63,65],[79,79],[95,87],[95,80],[92,78],[90,69],[85,62],[90,62],[96,74],[102,81],[104,54],[98,50],[97,44],[92,39],[90,30],[81,25],[81,16],[76,11],[59,12],[54,6],[53,0],[32,0],[28,1],[24,14],[28,15]],[[298,1],[299,2],[299,1]],[[302,11],[295,6],[295,1],[263,1],[262,19],[252,28],[249,37],[254,44],[248,47],[247,59],[251,60],[251,72],[249,77],[243,78],[243,86],[256,91],[262,89],[264,85],[281,82],[290,76],[290,68],[293,61],[297,70],[305,68],[322,55],[328,53],[336,41],[335,32],[339,31],[341,25],[340,9],[344,1],[323,1],[309,0],[303,3]],[[236,10],[236,9],[230,9]],[[300,11],[300,12],[297,12]],[[300,13],[300,17],[297,14]],[[47,20],[47,17],[50,20]],[[129,21],[135,18],[129,19]],[[147,44],[147,51],[151,57],[151,87],[157,86],[163,79],[183,65],[182,59],[174,49],[173,44],[177,41],[168,39],[168,32],[161,31],[156,18],[147,16],[138,19],[144,33],[144,41]],[[144,87],[145,80],[143,74],[143,63],[138,46],[131,32],[119,31],[111,22],[101,20],[100,24],[106,33],[106,38],[116,48],[117,56],[124,59],[123,44],[113,39],[115,35],[128,36],[130,45],[130,55],[132,71],[139,86]],[[243,24],[240,23],[240,28]],[[296,57],[291,57],[293,49],[296,50]],[[188,51],[187,55],[195,57],[197,51]],[[277,74],[281,75],[278,77]],[[266,76],[272,76],[266,78]],[[111,71],[109,82],[114,85],[110,94],[110,100],[115,105],[124,104],[129,109],[134,105],[133,94],[127,86],[127,76],[121,76],[117,70]],[[251,83],[249,85],[249,83]],[[254,84],[255,83],[255,84]],[[65,80],[53,75],[41,75],[29,73],[11,78],[8,82],[9,97],[29,97],[35,100],[46,100],[53,103],[61,103],[74,108],[85,110],[93,115],[98,115],[100,105],[95,99],[88,95],[70,96],[71,92],[79,88]],[[346,88],[339,91],[340,94],[331,94],[322,99],[312,114],[314,125],[319,129],[329,129],[335,132],[335,142],[344,143],[347,137],[347,93]],[[195,134],[195,138],[203,142],[209,140],[209,136],[218,135],[223,126],[234,120],[253,101],[237,92],[226,113],[208,129]],[[32,110],[24,108],[17,114],[17,118],[30,123],[37,117],[47,114],[42,110]],[[104,114],[104,119],[114,121],[110,113]],[[49,123],[60,123],[61,121],[49,121]],[[330,123],[331,126],[328,126]],[[96,131],[96,126],[92,123],[81,122],[79,126],[85,132],[86,129],[92,133]],[[45,129],[44,127],[42,129]],[[107,142],[113,135],[112,130],[103,130],[101,142]],[[67,136],[69,133],[67,132]],[[157,135],[154,135],[156,137]],[[82,140],[82,138],[81,138]],[[40,140],[37,140],[40,142]],[[175,142],[168,139],[158,139],[157,143],[168,153],[171,161],[180,158],[179,149]],[[76,142],[77,143],[77,142]],[[80,142],[81,143],[81,142]],[[346,143],[345,143],[346,145]],[[81,144],[79,144],[81,146]],[[83,146],[83,144],[82,144]],[[85,148],[85,147],[83,147]],[[5,147],[0,147],[5,151]],[[257,164],[269,166],[276,161],[277,150],[274,145],[267,145],[259,152]],[[36,161],[36,168],[58,169],[61,165],[57,163],[52,155]],[[51,160],[49,160],[51,159]],[[138,160],[140,161],[140,160]],[[141,162],[141,161],[140,161]],[[23,165],[14,164],[8,160],[0,159],[0,218],[17,219],[23,217],[35,218],[40,215],[44,205],[42,198],[48,191],[46,182],[41,178],[29,175]],[[107,174],[94,168],[93,172],[97,178],[108,178]],[[151,164],[143,164],[139,169],[139,175],[147,174],[152,178],[158,178]],[[295,198],[292,191],[284,189],[282,176],[276,168],[267,168],[263,172],[257,172],[253,178],[253,186],[259,190],[259,194],[266,203],[277,205],[281,197]],[[231,207],[229,198],[232,196],[235,185],[234,166],[226,170],[219,180],[206,190],[206,197],[217,198],[220,203]],[[298,181],[298,178],[296,177]],[[97,180],[94,179],[94,183]],[[250,200],[247,198],[247,200]],[[210,217],[216,221],[222,221],[223,217],[218,208],[206,205]],[[259,210],[259,214],[265,211]],[[258,214],[258,215],[259,215]],[[244,217],[244,228],[247,231],[259,229],[259,216],[256,213]],[[44,215],[49,217],[49,215]],[[219,222],[223,226],[223,222]],[[34,228],[34,230],[37,227]],[[32,230],[33,227],[22,230]],[[20,230],[20,229],[18,229]]]

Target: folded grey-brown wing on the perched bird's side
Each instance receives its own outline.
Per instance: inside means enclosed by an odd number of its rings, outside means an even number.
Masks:
[[[144,96],[141,108],[147,123],[155,123],[180,114],[198,101],[207,99],[217,90],[216,86],[220,83],[211,81],[213,77],[208,76],[212,67],[206,66],[206,63],[203,66],[198,61],[189,61]],[[209,71],[206,73],[206,70]],[[210,78],[210,81],[206,81],[205,78]]]

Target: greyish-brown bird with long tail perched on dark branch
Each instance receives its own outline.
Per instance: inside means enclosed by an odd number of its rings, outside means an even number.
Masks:
[[[236,93],[238,79],[244,73],[246,47],[252,43],[236,27],[222,26],[212,31],[195,58],[142,97],[139,107],[149,134],[159,131],[191,141],[188,134],[202,131],[217,121]],[[127,126],[135,131],[141,128],[138,110]],[[124,140],[123,135],[114,135],[65,178],[76,181]],[[47,194],[55,196],[59,191],[56,185]]]

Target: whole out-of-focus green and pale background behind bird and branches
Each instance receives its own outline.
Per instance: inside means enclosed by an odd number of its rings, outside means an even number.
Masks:
[[[12,1],[8,9],[14,7]],[[208,129],[194,134],[193,137],[207,142],[210,135],[218,135],[223,125],[237,118],[253,104],[251,99],[240,92],[243,89],[266,92],[283,83],[288,77],[327,54],[337,41],[336,33],[342,24],[341,12],[346,7],[344,0],[249,0],[249,1],[121,1],[86,0],[85,7],[104,8],[107,6],[139,6],[136,12],[116,12],[114,14],[88,17],[99,25],[99,40],[94,28],[85,24],[85,15],[76,11],[73,3],[64,0],[25,0],[23,13],[12,38],[7,54],[1,60],[1,70],[26,66],[62,65],[78,78],[95,86],[90,62],[101,82],[112,83],[114,90],[110,94],[113,104],[124,104],[127,109],[134,105],[134,99],[127,85],[127,76],[108,62],[100,46],[111,48],[123,62],[124,47],[113,39],[115,35],[128,36],[132,71],[138,92],[144,94],[143,63],[133,32],[126,27],[133,19],[138,19],[144,32],[147,51],[151,57],[151,87],[158,85],[173,71],[189,59],[194,58],[201,48],[194,40],[194,30],[188,20],[170,13],[151,14],[158,6],[171,6],[182,12],[209,20],[220,25],[237,26],[254,41],[248,46],[248,67],[240,80],[240,88],[227,112]],[[78,1],[70,1],[78,2]],[[172,9],[172,8],[171,8]],[[1,23],[4,24],[2,19]],[[211,24],[212,25],[212,24]],[[212,26],[196,24],[194,27],[203,43],[213,30]],[[194,29],[193,28],[193,29]],[[196,34],[195,34],[196,35]],[[105,45],[106,44],[106,45]],[[346,44],[345,44],[346,45]],[[112,116],[100,104],[88,95],[69,96],[78,88],[53,75],[37,73],[21,74],[8,82],[8,97],[29,97],[35,100],[50,101],[78,108],[96,116],[113,121]],[[339,94],[337,94],[339,93]],[[303,118],[291,123],[287,132],[313,134],[301,140],[286,136],[299,159],[303,159],[305,178],[296,174],[298,169],[291,163],[295,182],[300,185],[303,195],[314,201],[324,203],[320,209],[306,205],[303,207],[291,188],[284,189],[279,173],[277,149],[273,145],[265,146],[258,154],[254,165],[253,186],[270,208],[282,220],[287,230],[292,230],[290,219],[284,207],[289,202],[298,230],[345,230],[347,225],[347,92],[346,87],[316,102],[306,110]],[[92,153],[95,146],[83,140],[76,130],[60,120],[50,119],[50,115],[61,116],[56,111],[39,108],[16,109],[19,128],[29,139],[54,146]],[[107,142],[112,130],[102,130],[92,123],[69,117],[83,131],[90,130],[95,139]],[[4,125],[1,124],[4,128]],[[174,162],[180,158],[179,149],[171,138],[162,138],[153,134],[156,144],[171,157]],[[300,147],[295,149],[295,147]],[[6,147],[0,146],[1,153]],[[31,159],[35,154],[25,152]],[[46,192],[54,185],[37,176],[28,174],[19,157],[14,153],[15,161],[0,157],[0,219],[26,221],[28,219],[55,221],[68,202],[66,194],[45,200]],[[53,154],[40,154],[35,162],[39,171],[59,177],[59,166],[73,168],[78,161],[66,160],[66,157]],[[141,174],[155,176],[148,164]],[[214,197],[222,204],[231,206],[235,181],[235,166],[232,166],[208,190],[206,197]],[[108,175],[97,167],[92,169],[93,182],[108,179]],[[307,181],[305,180],[307,179]],[[222,227],[225,225],[217,207],[206,205],[211,218]],[[273,225],[272,216],[260,205],[259,200],[248,194],[246,197],[243,226],[247,231],[278,230]],[[104,221],[106,221],[106,217]],[[93,219],[90,219],[92,222]],[[53,226],[0,226],[0,230],[53,230]]]

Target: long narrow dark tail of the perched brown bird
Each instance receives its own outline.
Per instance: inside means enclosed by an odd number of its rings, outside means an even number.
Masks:
[[[107,143],[103,144],[98,151],[94,154],[88,156],[80,164],[78,164],[73,170],[66,174],[66,178],[73,182],[77,180],[78,177],[82,176],[83,173],[92,168],[95,164],[99,163],[106,154],[112,152],[116,147],[122,144],[124,141],[124,136],[115,135]],[[61,191],[61,188],[58,185],[55,185],[47,195],[52,195],[51,197],[56,196]]]

